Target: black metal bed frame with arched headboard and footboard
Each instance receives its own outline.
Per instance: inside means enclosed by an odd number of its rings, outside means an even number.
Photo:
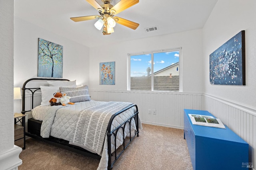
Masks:
[[[22,114],[25,114],[26,112],[31,111],[31,110],[28,110],[28,111],[25,110],[26,90],[29,90],[31,92],[31,94],[32,94],[32,108],[34,108],[34,93],[36,91],[40,90],[40,88],[26,88],[26,84],[28,82],[30,82],[30,81],[33,81],[33,80],[62,80],[62,81],[69,81],[67,79],[55,79],[55,78],[31,78],[29,80],[26,80],[26,82],[24,82],[24,84],[22,86],[22,112],[21,112]],[[113,129],[111,131],[111,125],[112,125],[112,122],[113,122],[114,118],[117,115],[119,115],[120,113],[122,113],[122,112],[124,112],[124,111],[126,111],[126,110],[128,110],[128,109],[130,109],[132,107],[136,108],[135,113],[131,117],[129,117],[126,121],[124,121],[124,123],[122,123],[121,125],[119,125],[118,127],[116,127],[115,129]],[[134,139],[134,137],[136,135],[137,135],[137,137],[139,136],[138,113],[139,113],[138,112],[138,106],[136,104],[131,104],[128,107],[125,107],[124,109],[118,111],[117,113],[112,115],[112,117],[110,118],[110,121],[108,123],[107,133],[106,133],[107,137],[108,137],[108,169],[112,169],[113,168],[113,165],[116,162],[116,160],[121,156],[121,154],[128,147],[128,145],[131,143],[131,141]],[[136,123],[136,130],[134,131],[134,135],[132,135],[132,132],[131,132],[131,121],[133,119],[134,119],[134,121]],[[125,129],[126,125],[129,126],[128,128],[129,128],[129,131],[130,131],[130,138],[129,138],[129,141],[127,142],[127,144],[125,144],[125,138],[124,138],[124,129]],[[123,134],[123,144],[120,145],[120,147],[122,147],[122,150],[117,152],[117,149],[116,149],[116,134],[118,133],[118,131],[120,129],[122,130],[122,134]],[[90,156],[91,158],[96,158],[96,159],[100,159],[101,158],[101,156],[96,154],[96,153],[92,153],[92,152],[89,152],[88,150],[85,150],[85,149],[83,149],[81,147],[77,147],[77,146],[68,144],[68,141],[66,141],[64,139],[58,139],[58,138],[55,138],[55,137],[42,138],[39,135],[35,135],[35,134],[29,133],[29,132],[26,132],[26,135],[29,136],[29,137],[33,137],[35,139],[44,141],[46,143],[50,143],[52,145],[56,145],[58,147],[62,147],[64,149],[71,150],[71,151],[83,154],[85,156]],[[114,150],[113,153],[111,153],[111,137],[112,137],[112,135],[114,136],[114,146],[115,146],[115,150]],[[112,161],[112,154],[114,154],[114,160],[113,161]]]

